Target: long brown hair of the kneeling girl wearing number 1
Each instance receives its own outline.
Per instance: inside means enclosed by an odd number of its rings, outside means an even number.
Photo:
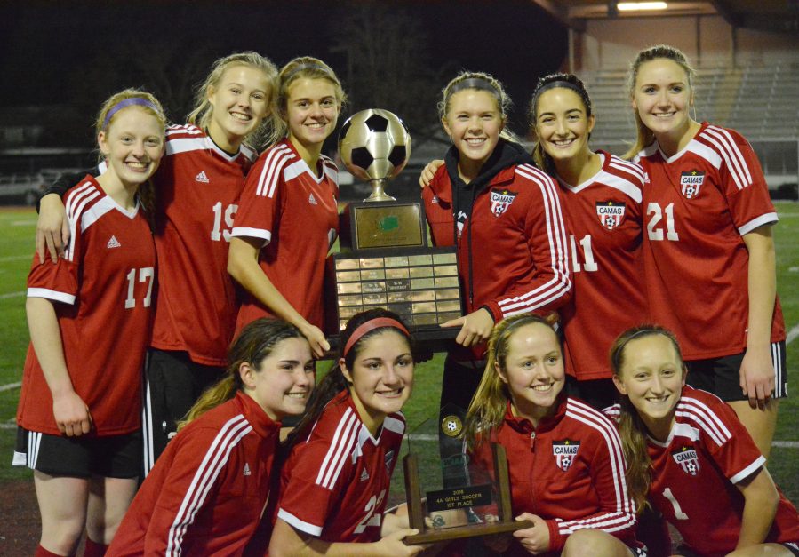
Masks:
[[[625,330],[619,335],[619,338],[616,338],[616,342],[611,346],[611,353],[609,355],[611,370],[613,370],[613,375],[619,378],[619,381],[621,380],[621,370],[627,362],[627,344],[631,340],[638,340],[639,338],[647,338],[655,335],[666,337],[671,341],[677,357],[682,364],[683,353],[680,351],[680,345],[677,344],[674,333],[659,325],[640,325]],[[616,418],[616,425],[619,428],[624,458],[627,460],[627,491],[630,497],[633,498],[633,501],[635,501],[635,508],[638,513],[642,513],[645,506],[649,505],[646,495],[649,493],[652,469],[651,458],[649,458],[649,446],[646,441],[648,430],[643,424],[638,410],[636,410],[633,403],[630,402],[629,397],[627,395],[622,395],[620,396],[620,401],[619,418]]]

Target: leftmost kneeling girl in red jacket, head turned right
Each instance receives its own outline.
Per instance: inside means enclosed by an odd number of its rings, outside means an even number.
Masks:
[[[107,555],[241,555],[255,532],[285,416],[314,388],[308,340],[259,319],[230,346],[225,378],[206,391],[141,485]]]

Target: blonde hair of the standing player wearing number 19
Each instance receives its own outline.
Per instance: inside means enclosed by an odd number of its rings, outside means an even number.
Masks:
[[[194,110],[188,114],[188,123],[192,123],[204,130],[208,128],[208,124],[211,123],[213,115],[213,106],[208,100],[208,96],[214,89],[219,87],[224,73],[229,68],[236,68],[236,66],[246,66],[247,68],[260,70],[267,78],[267,83],[269,85],[269,99],[267,102],[269,114],[261,121],[255,130],[244,138],[244,142],[256,149],[268,147],[280,138],[280,118],[277,117],[275,111],[277,67],[268,58],[261,56],[258,52],[236,52],[224,58],[220,58],[220,60],[213,63],[211,73],[205,78],[204,83],[197,88],[195,107]]]

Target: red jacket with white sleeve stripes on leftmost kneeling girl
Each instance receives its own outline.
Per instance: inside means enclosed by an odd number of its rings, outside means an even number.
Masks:
[[[191,422],[141,485],[108,557],[241,555],[267,502],[279,433],[242,393]]]

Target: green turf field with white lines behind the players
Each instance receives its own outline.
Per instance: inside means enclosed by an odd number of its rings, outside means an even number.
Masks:
[[[799,204],[779,203],[779,226],[774,228],[777,244],[778,292],[787,330],[799,327]],[[0,479],[30,478],[27,470],[12,468],[13,421],[19,387],[5,388],[20,381],[22,364],[28,348],[25,322],[25,281],[34,249],[36,214],[30,210],[0,210]],[[411,402],[405,410],[408,423],[416,426],[435,413],[441,386],[443,357],[438,354],[417,368],[417,380]],[[323,363],[321,369],[326,369]],[[797,393],[799,382],[799,339],[788,345],[788,378]],[[320,374],[321,375],[321,374]],[[790,388],[790,387],[789,387]],[[799,502],[799,399],[794,396],[781,403],[775,440],[794,442],[793,446],[775,447],[769,469],[775,481],[794,502]],[[394,482],[401,490],[402,483]]]

